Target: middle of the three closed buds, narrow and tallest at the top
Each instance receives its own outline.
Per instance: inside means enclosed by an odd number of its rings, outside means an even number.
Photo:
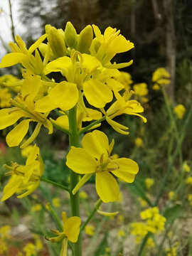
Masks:
[[[77,32],[75,31],[75,28],[70,21],[65,26],[65,43],[70,47],[70,48],[75,48],[77,45],[78,41],[78,35]]]

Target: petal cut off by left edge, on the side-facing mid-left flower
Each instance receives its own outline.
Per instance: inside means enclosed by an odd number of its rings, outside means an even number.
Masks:
[[[0,110],[0,129],[4,129],[14,124],[18,119],[23,117],[23,114],[19,110],[14,110],[14,108],[6,108]]]

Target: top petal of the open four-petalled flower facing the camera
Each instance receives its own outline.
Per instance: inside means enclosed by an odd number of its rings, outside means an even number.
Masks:
[[[109,141],[104,132],[95,130],[85,134],[82,138],[82,147],[92,156],[100,159],[102,154],[107,154],[109,149]]]

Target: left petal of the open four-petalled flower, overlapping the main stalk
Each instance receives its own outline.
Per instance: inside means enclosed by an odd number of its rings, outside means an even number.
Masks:
[[[73,146],[67,155],[66,165],[77,174],[91,174],[96,171],[97,161],[85,149]]]

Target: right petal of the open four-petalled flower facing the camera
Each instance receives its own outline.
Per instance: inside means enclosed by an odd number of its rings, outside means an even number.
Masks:
[[[114,159],[114,163],[118,164],[119,169],[117,171],[112,171],[112,174],[117,176],[118,178],[122,178],[122,180],[132,183],[134,181],[135,174],[139,171],[138,164],[132,159]],[[110,168],[110,164],[108,165]]]

